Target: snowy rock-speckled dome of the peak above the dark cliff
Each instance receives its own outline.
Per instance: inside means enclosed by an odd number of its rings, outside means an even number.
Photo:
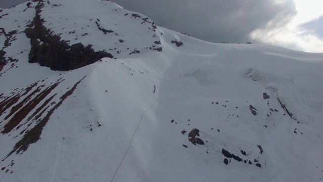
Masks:
[[[148,51],[159,41],[151,19],[109,1],[47,1],[41,10],[44,26],[70,45],[91,44],[118,57]]]

